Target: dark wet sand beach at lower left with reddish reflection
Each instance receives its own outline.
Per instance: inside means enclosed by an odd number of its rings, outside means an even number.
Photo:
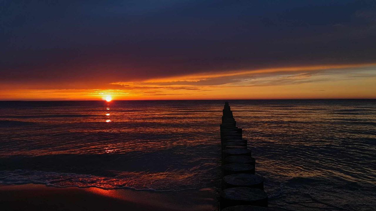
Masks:
[[[214,189],[178,192],[131,189],[47,187],[41,184],[1,185],[1,209],[11,210],[135,210],[213,211]]]

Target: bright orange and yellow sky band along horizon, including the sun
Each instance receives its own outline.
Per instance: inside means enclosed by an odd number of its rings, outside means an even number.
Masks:
[[[102,98],[106,102],[111,102],[113,98],[117,100],[376,98],[374,92],[376,64],[201,72],[139,81],[113,81],[99,83],[98,86],[101,88],[12,89],[4,86],[0,88],[0,100]],[[107,106],[106,109],[109,110],[109,107]]]

